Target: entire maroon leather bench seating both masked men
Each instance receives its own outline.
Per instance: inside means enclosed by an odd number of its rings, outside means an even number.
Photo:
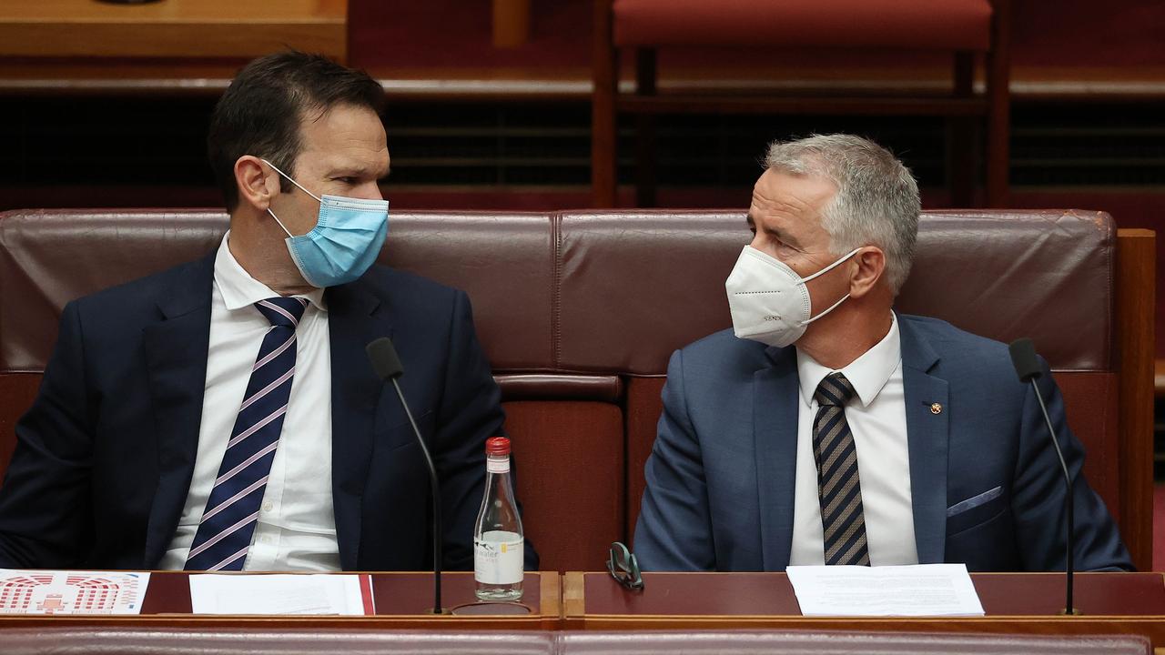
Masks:
[[[211,252],[221,211],[0,213],[0,473],[64,304]],[[502,389],[545,571],[628,540],[672,351],[730,326],[743,210],[395,212],[381,261],[464,289]],[[1138,568],[1152,554],[1156,239],[1074,210],[926,212],[898,308],[1047,358],[1085,470]],[[0,642],[0,653],[7,654]]]

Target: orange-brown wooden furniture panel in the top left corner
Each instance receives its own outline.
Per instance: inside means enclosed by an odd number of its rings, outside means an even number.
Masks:
[[[0,57],[249,59],[287,47],[347,56],[347,0],[0,2]]]

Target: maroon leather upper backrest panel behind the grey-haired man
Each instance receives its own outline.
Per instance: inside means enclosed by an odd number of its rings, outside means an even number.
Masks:
[[[732,326],[723,281],[750,239],[743,211],[572,212],[560,230],[560,367],[657,375]],[[926,212],[896,307],[1031,337],[1055,369],[1109,371],[1115,237],[1101,212]]]

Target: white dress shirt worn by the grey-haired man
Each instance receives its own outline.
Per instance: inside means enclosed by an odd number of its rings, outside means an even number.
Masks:
[[[817,463],[813,460],[813,420],[817,416],[813,394],[821,380],[834,372],[797,350],[800,402],[797,413],[793,543],[789,556],[792,565],[825,563],[821,503]],[[887,336],[840,372],[856,392],[856,397],[846,404],[846,421],[857,450],[857,476],[870,564],[917,564],[898,319],[891,314]]]

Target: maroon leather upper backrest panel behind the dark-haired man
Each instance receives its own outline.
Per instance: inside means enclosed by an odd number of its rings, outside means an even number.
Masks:
[[[467,291],[501,369],[550,369],[552,220],[545,214],[395,212],[382,263]],[[0,372],[43,371],[70,300],[212,252],[216,210],[0,214]]]

